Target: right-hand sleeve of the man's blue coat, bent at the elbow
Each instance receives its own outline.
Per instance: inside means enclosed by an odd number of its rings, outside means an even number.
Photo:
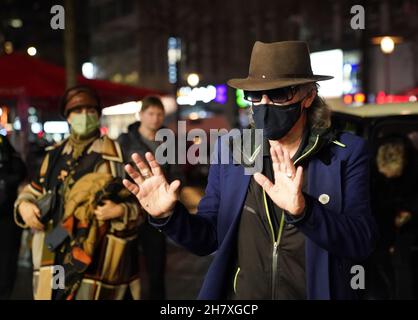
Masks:
[[[326,209],[305,194],[307,209],[302,219],[292,221],[308,238],[330,253],[362,261],[373,250],[377,227],[370,211],[369,163],[366,143],[358,147],[341,170],[342,212]]]

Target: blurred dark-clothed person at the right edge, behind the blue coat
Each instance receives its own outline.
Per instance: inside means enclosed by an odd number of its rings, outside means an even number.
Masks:
[[[376,274],[371,276],[379,276],[386,288],[376,287],[374,298],[416,299],[417,152],[411,141],[400,135],[383,137],[376,145],[374,188],[378,199],[373,201],[373,210],[381,237],[373,255]]]

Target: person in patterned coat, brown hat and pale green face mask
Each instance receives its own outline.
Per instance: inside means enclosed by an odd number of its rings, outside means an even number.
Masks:
[[[16,223],[34,231],[35,299],[140,297],[140,211],[121,183],[118,143],[100,134],[101,110],[90,87],[64,93],[60,111],[70,136],[47,148],[37,175],[15,202]],[[51,287],[56,266],[64,271],[62,287]]]

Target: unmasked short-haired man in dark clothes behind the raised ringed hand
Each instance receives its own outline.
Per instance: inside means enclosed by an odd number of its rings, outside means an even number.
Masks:
[[[122,148],[125,162],[131,161],[134,153],[145,157],[147,152],[155,154],[161,141],[155,140],[159,129],[164,128],[165,110],[160,98],[147,96],[142,100],[140,121],[131,124],[128,132],[119,136],[118,142]],[[177,153],[177,152],[176,152]],[[176,164],[161,166],[168,181],[179,179],[184,181],[181,167]],[[145,267],[148,276],[148,299],[164,300],[165,267],[166,267],[166,237],[155,227],[148,223],[148,219],[139,228],[140,249],[143,252]]]

